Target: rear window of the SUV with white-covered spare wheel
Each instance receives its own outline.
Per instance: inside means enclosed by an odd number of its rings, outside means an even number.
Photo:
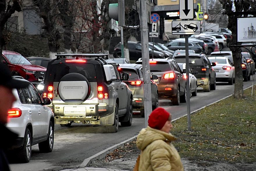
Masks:
[[[87,78],[89,82],[103,81],[102,69],[96,69],[93,64],[88,63],[58,63],[47,68],[45,80],[48,82],[59,82],[60,79],[68,73],[80,73]],[[98,76],[98,77],[97,77]]]

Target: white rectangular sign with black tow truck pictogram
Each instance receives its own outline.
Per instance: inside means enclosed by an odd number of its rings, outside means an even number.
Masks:
[[[201,22],[200,20],[185,20],[172,22],[172,34],[200,34]]]

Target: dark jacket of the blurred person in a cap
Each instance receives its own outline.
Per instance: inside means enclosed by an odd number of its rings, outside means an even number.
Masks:
[[[5,150],[11,147],[18,135],[0,123],[0,137],[2,137],[0,140],[0,171],[10,171]]]

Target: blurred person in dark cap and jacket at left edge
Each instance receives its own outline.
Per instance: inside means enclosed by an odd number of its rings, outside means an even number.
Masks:
[[[13,88],[27,87],[29,82],[13,79],[7,65],[0,62],[0,171],[9,171],[9,163],[4,150],[17,138],[17,134],[6,127],[8,123],[8,110],[11,109],[13,102],[16,101],[12,93]]]

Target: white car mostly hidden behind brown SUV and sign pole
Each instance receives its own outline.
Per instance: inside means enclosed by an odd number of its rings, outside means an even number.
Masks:
[[[183,75],[186,77],[186,79],[188,79],[187,73],[186,73],[186,63],[178,63],[180,69],[183,72]],[[190,84],[190,94],[192,96],[196,96],[197,95],[197,80],[196,80],[196,76],[194,76],[194,73],[192,72],[192,70],[190,69],[190,67],[188,67],[189,70],[189,84]],[[197,73],[195,71],[195,73]]]

